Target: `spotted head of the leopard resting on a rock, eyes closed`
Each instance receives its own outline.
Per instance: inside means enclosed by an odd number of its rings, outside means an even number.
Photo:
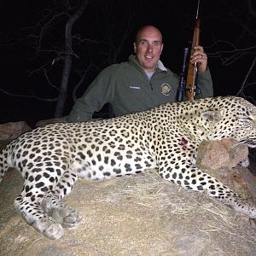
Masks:
[[[256,106],[247,100],[217,97],[212,109],[201,113],[201,117],[212,123],[209,140],[234,138],[239,144],[256,148]]]

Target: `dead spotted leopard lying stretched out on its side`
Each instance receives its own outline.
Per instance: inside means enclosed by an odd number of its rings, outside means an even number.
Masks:
[[[249,219],[256,206],[195,165],[202,141],[233,138],[256,148],[256,106],[239,96],[167,102],[111,119],[51,123],[15,138],[0,154],[0,181],[10,167],[23,177],[15,210],[49,239],[79,226],[63,201],[79,179],[107,180],[154,168],[160,177],[203,192]]]

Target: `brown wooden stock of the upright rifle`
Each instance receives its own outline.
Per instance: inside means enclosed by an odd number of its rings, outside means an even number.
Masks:
[[[190,49],[190,56],[193,53],[194,47],[200,44],[200,26],[201,26],[201,20],[196,19],[194,33],[193,33],[193,40],[192,40],[191,49]],[[186,93],[185,93],[186,100],[188,101],[194,101],[195,99],[196,80],[197,80],[197,64],[190,63],[190,58],[189,58],[187,78],[186,78]]]

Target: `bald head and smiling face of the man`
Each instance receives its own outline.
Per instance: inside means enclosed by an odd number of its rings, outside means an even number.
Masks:
[[[137,41],[133,44],[137,61],[144,71],[154,72],[163,49],[162,36],[154,26],[147,26],[137,34]]]

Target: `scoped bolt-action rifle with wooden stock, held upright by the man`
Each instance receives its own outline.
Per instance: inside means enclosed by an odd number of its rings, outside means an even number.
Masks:
[[[195,45],[200,44],[201,20],[198,19],[199,4],[200,0],[198,0],[197,3],[195,26],[191,46],[190,48],[184,48],[183,51],[183,67],[180,74],[180,80],[177,90],[177,102],[182,102],[185,100],[194,101],[195,91],[197,90],[197,64],[191,64],[189,60]]]

